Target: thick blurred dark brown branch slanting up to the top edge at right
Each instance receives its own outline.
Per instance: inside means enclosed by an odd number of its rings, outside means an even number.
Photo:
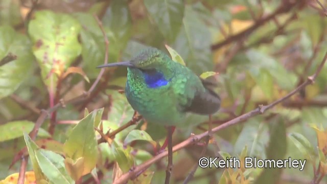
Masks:
[[[251,34],[256,29],[265,25],[268,21],[274,19],[274,17],[276,17],[277,15],[289,12],[299,2],[305,3],[305,1],[283,1],[283,3],[281,5],[279,5],[279,7],[273,13],[271,13],[267,16],[264,16],[261,19],[256,20],[255,24],[253,26],[251,26],[250,28],[248,28],[236,35],[232,35],[219,43],[213,44],[211,46],[211,50],[217,50],[217,49],[223,47],[224,45],[229,44],[235,40],[242,39],[243,37]]]

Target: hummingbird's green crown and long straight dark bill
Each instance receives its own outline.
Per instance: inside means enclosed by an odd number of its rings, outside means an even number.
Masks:
[[[141,53],[139,53],[129,61],[104,64],[97,66],[97,68],[110,66],[127,66],[131,68],[138,68],[139,70],[149,70],[168,64],[169,60],[167,60],[166,57],[169,58],[162,51],[150,47],[148,49],[143,50]]]

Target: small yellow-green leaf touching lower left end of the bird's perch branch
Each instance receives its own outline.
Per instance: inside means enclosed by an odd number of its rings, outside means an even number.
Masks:
[[[114,141],[111,144],[111,152],[114,156],[115,161],[124,173],[128,172],[134,166],[134,160],[130,154],[131,147],[124,149],[122,145]]]

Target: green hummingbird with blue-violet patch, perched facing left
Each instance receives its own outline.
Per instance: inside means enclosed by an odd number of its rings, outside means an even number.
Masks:
[[[110,66],[127,66],[126,98],[150,123],[178,127],[187,112],[208,115],[220,108],[220,97],[210,83],[156,48],[97,68]]]

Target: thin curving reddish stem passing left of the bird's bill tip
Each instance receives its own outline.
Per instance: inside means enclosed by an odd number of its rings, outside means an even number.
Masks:
[[[98,17],[97,16],[95,16],[95,17],[96,17],[97,21],[100,22]],[[100,22],[99,26],[100,26],[100,28],[102,28],[101,22]],[[103,28],[102,28],[102,30],[103,30]],[[106,55],[105,55],[105,59],[104,59],[104,64],[106,64],[108,62],[108,44],[109,44],[109,42],[108,42],[107,37],[105,36],[105,32],[103,32],[103,34],[104,34],[104,37],[105,37],[104,39],[106,40]],[[49,114],[51,112],[57,110],[60,107],[65,107],[65,104],[77,104],[77,103],[80,103],[80,102],[84,101],[86,99],[85,97],[88,97],[89,94],[95,89],[95,87],[99,83],[100,78],[102,77],[103,73],[104,73],[104,70],[101,70],[98,77],[97,77],[97,80],[92,84],[90,89],[87,92],[83,93],[82,95],[80,95],[78,97],[75,97],[75,98],[73,98],[71,100],[68,100],[67,102],[64,102],[61,99],[59,101],[59,103],[57,103],[53,107],[51,107],[51,108],[49,108],[47,110],[42,109],[39,118],[36,120],[36,123],[34,125],[33,130],[29,134],[31,139],[35,140],[39,128],[41,127],[41,125],[43,124],[43,122],[49,116]],[[18,176],[18,181],[19,182],[18,182],[18,184],[24,184],[27,162],[28,162],[28,156],[26,156],[25,159],[22,159],[20,169],[19,169],[19,176]]]

